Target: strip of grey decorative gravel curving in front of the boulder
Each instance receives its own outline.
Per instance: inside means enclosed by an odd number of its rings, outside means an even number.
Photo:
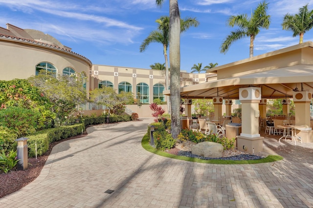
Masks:
[[[235,155],[231,157],[209,158],[209,157],[203,157],[200,155],[192,154],[191,151],[182,151],[182,150],[179,150],[178,155],[185,156],[185,157],[199,158],[202,160],[259,160],[259,159],[264,158],[261,156],[251,155],[251,154],[241,154],[241,155]]]

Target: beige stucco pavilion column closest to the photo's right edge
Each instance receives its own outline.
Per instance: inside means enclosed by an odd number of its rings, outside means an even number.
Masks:
[[[312,93],[308,91],[293,92],[295,106],[295,125],[308,125],[310,127],[310,103]]]

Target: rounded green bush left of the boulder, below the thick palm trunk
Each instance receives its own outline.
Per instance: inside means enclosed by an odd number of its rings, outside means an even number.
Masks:
[[[165,130],[158,129],[153,132],[153,138],[156,145],[156,149],[164,150],[170,149],[176,145],[176,139],[172,137],[172,134],[169,134]]]

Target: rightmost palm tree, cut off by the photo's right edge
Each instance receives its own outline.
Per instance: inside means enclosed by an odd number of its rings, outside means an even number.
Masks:
[[[313,10],[309,11],[308,4],[299,8],[299,13],[284,16],[282,23],[283,30],[292,31],[293,37],[300,36],[299,43],[303,42],[303,35],[313,27]]]

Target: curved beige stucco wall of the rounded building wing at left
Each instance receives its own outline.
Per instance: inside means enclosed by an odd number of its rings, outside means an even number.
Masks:
[[[91,65],[68,53],[50,48],[19,42],[0,41],[0,80],[26,79],[36,73],[36,65],[40,62],[53,64],[58,74],[65,67],[73,68],[77,73],[85,72],[89,76]]]

